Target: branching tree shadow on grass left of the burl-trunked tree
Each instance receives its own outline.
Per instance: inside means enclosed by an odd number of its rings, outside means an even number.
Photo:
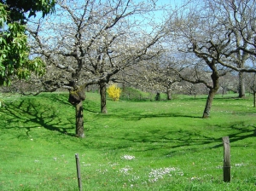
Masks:
[[[69,133],[73,130],[70,119],[59,116],[55,107],[51,107],[50,103],[45,101],[45,104],[37,102],[36,99],[25,99],[19,103],[9,104],[1,110],[9,127],[3,128],[25,128],[26,136],[32,129],[43,127],[46,130],[57,131],[61,134],[74,136]]]

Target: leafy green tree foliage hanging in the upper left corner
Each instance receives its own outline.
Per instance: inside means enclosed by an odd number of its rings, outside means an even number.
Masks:
[[[0,0],[0,85],[9,85],[16,76],[27,79],[31,72],[44,74],[44,61],[30,59],[26,38],[26,20],[54,11],[55,0]]]

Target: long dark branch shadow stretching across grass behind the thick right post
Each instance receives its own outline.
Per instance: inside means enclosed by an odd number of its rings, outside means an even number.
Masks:
[[[224,124],[223,126],[215,125],[216,130],[221,130],[220,134],[230,137],[230,144],[235,145],[239,141],[243,141],[250,137],[256,136],[256,127],[248,126],[244,122],[234,124]],[[219,134],[218,134],[219,135]],[[135,133],[132,131],[124,131],[123,135],[108,137],[102,135],[102,140],[108,140],[112,143],[103,144],[100,148],[104,150],[121,149],[129,151],[132,148],[137,152],[149,152],[158,154],[158,157],[172,157],[182,155],[184,153],[201,152],[204,149],[212,150],[215,148],[223,148],[222,137],[216,134],[207,134],[206,131],[195,130],[162,130],[151,129],[147,132],[138,130]],[[101,139],[101,137],[98,137]],[[238,143],[238,145],[241,144]],[[89,147],[93,147],[91,142]],[[240,147],[240,146],[238,146]],[[243,147],[243,146],[241,146]]]

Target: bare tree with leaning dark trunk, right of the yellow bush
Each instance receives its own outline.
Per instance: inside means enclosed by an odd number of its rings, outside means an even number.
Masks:
[[[224,68],[218,64],[226,49],[226,46],[220,46],[226,40],[223,27],[212,21],[204,6],[193,3],[183,14],[177,14],[170,28],[172,41],[177,43],[177,49],[187,54],[187,62],[182,67],[193,67],[195,70],[194,75],[189,77],[178,72],[180,78],[193,84],[205,84],[209,90],[202,115],[202,118],[208,118],[213,98],[219,88],[219,78],[225,74]],[[202,75],[201,71],[209,75]]]

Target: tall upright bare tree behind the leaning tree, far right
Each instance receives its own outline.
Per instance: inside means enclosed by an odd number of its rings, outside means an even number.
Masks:
[[[216,20],[219,25],[224,26],[226,32],[230,32],[230,39],[233,42],[230,50],[239,49],[243,47],[248,49],[250,44],[242,38],[243,36],[247,39],[252,39],[254,36],[253,30],[249,30],[251,27],[248,25],[254,18],[252,15],[252,9],[255,9],[255,1],[220,1],[214,0],[208,3],[208,9],[214,13]],[[237,27],[246,28],[247,33],[241,33]],[[232,34],[232,35],[231,35]],[[228,52],[230,52],[230,50]],[[246,66],[249,54],[246,51],[234,51],[233,54],[229,55],[232,58],[237,68],[244,68]],[[245,97],[245,77],[244,72],[239,71],[239,83],[238,93],[239,97]]]

